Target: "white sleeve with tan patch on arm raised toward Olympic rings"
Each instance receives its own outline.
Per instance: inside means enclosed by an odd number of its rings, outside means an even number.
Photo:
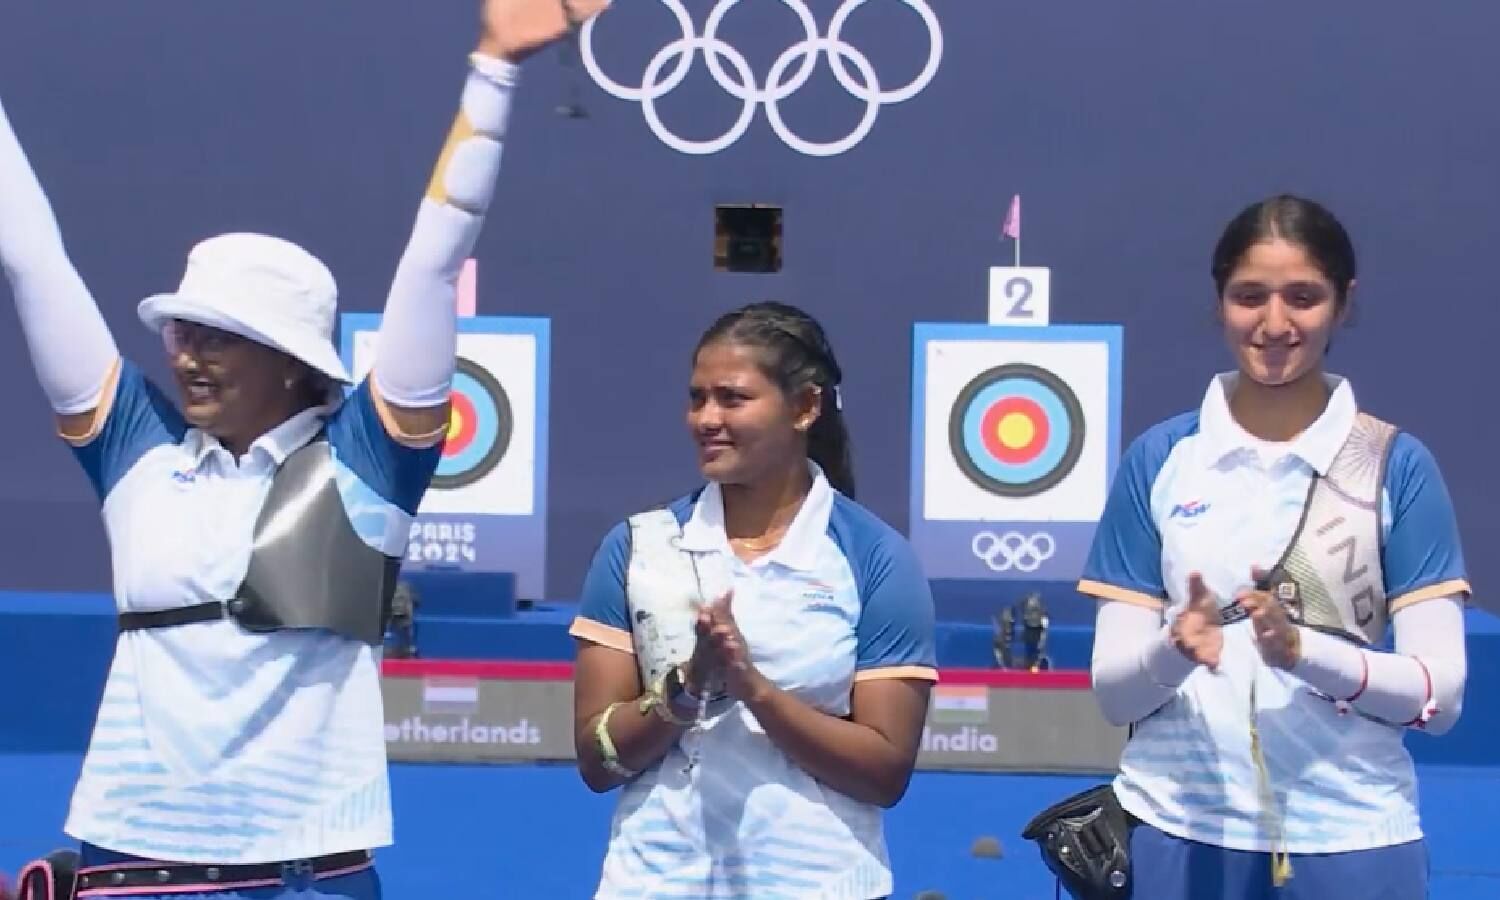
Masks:
[[[375,340],[374,378],[398,406],[448,399],[458,352],[456,285],[500,174],[518,68],[476,54],[464,100],[396,267]]]

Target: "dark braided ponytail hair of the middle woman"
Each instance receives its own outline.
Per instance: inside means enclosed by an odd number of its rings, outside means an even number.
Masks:
[[[720,316],[699,339],[693,356],[718,340],[760,351],[762,370],[788,396],[818,388],[822,405],[807,430],[807,456],[834,489],[854,500],[854,458],[838,392],[843,372],[818,320],[788,303],[752,303]]]

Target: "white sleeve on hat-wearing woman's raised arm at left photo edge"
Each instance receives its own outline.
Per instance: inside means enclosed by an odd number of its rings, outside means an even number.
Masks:
[[[0,106],[0,268],[15,294],[32,366],[52,410],[87,412],[120,351],[68,260],[52,207]]]

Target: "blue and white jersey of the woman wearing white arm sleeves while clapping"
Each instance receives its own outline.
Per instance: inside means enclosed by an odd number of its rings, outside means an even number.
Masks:
[[[1078,590],[1102,600],[1182,610],[1188,573],[1221,604],[1269,570],[1296,530],[1314,472],[1326,474],[1354,426],[1348,382],[1329,376],[1323,414],[1296,440],[1244,432],[1221,375],[1200,410],[1156,424],[1126,450]],[[1416,438],[1400,434],[1380,496],[1380,564],[1390,612],[1466,596],[1458,525],[1443,477]],[[1108,639],[1100,634],[1098,639]],[[1196,669],[1137,723],[1116,778],[1120,802],[1178,837],[1269,852],[1275,822],[1251,759],[1251,686],[1270,789],[1293,854],[1372,849],[1416,840],[1416,776],[1402,729],[1340,716],[1290,672],[1260,658],[1248,621],[1224,628],[1216,672]]]

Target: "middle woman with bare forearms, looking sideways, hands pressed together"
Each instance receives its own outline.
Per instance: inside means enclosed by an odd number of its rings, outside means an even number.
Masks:
[[[590,788],[624,788],[596,897],[891,892],[880,808],[921,746],[933,603],[849,496],[840,380],[806,312],[720,318],[688,381],[708,483],[594,556],[574,742]]]

